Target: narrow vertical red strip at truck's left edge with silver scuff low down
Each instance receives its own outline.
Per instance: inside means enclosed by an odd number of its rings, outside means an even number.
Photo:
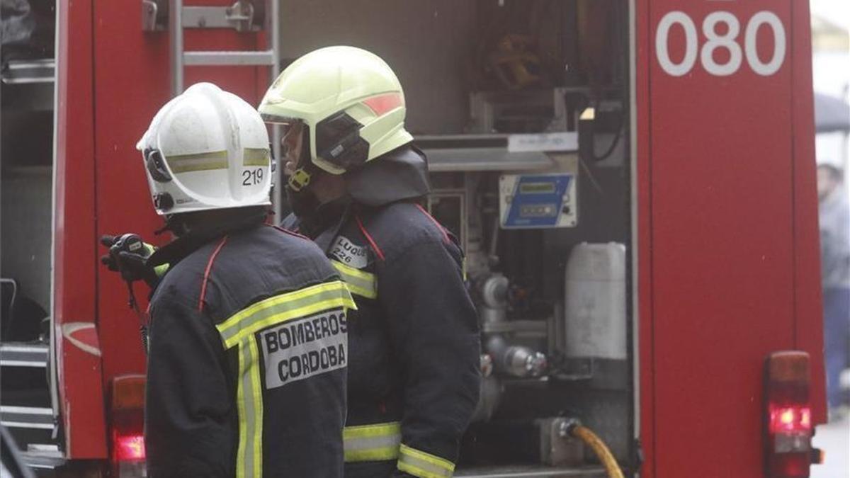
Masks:
[[[87,351],[65,332],[96,319],[92,3],[59,2],[54,334],[60,413],[70,458],[105,458],[104,393],[96,340]],[[76,324],[76,325],[75,325]]]

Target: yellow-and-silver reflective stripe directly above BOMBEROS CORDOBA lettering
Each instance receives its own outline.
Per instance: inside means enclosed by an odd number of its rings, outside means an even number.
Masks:
[[[344,282],[334,281],[306,287],[261,300],[218,324],[226,348],[233,347],[260,329],[338,307],[357,309]]]

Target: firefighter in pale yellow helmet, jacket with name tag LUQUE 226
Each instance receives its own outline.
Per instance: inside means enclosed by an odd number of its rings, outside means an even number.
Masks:
[[[312,238],[358,310],[349,320],[345,475],[452,475],[479,394],[479,326],[456,238],[422,208],[428,167],[377,55],[321,48],[259,111],[282,125],[283,226]]]

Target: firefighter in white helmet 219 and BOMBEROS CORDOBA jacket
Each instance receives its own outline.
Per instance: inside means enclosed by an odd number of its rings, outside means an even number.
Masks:
[[[138,145],[177,239],[150,300],[149,475],[342,476],[348,288],[304,237],[264,224],[270,154],[257,111],[199,83]],[[121,251],[116,268],[139,265]]]

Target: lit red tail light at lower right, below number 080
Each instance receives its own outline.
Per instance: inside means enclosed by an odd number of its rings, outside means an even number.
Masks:
[[[812,457],[812,408],[809,405],[806,352],[768,356],[765,367],[764,461],[768,478],[807,478]]]

